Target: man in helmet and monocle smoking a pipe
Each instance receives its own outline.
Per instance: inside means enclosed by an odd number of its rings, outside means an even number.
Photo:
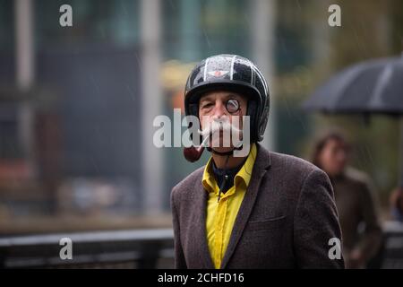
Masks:
[[[232,141],[212,144],[207,165],[173,188],[176,268],[343,268],[340,252],[330,252],[341,234],[327,175],[258,143],[270,99],[256,66],[236,55],[201,61],[187,80],[184,107],[201,119],[202,134],[211,122],[234,126],[234,118],[249,117],[251,143],[244,157]]]

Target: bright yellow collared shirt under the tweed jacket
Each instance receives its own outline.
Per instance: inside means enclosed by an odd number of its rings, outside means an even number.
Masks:
[[[202,178],[204,188],[209,192],[207,203],[207,241],[210,256],[216,269],[219,269],[221,261],[226,253],[232,228],[236,221],[236,214],[244,199],[246,188],[251,180],[253,164],[256,159],[256,145],[253,143],[251,152],[244,162],[244,166],[236,173],[234,186],[227,192],[221,193],[218,201],[219,186],[211,168],[211,158],[207,163]]]

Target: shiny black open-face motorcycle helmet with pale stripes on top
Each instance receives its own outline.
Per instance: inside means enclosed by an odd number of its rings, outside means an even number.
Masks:
[[[186,116],[199,117],[199,100],[208,91],[234,91],[248,98],[251,141],[260,142],[267,126],[270,93],[262,73],[245,57],[221,54],[202,60],[193,68],[184,91]]]

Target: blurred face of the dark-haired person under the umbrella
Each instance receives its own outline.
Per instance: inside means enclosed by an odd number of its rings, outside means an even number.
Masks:
[[[330,139],[325,143],[319,158],[322,169],[330,176],[338,176],[347,165],[346,143]]]

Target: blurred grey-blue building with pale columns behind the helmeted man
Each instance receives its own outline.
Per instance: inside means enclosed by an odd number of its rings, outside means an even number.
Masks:
[[[59,24],[62,4],[73,27]],[[262,0],[1,0],[2,222],[169,213],[171,187],[202,162],[155,148],[154,117],[173,117],[202,57],[241,54],[271,74],[274,9]]]

